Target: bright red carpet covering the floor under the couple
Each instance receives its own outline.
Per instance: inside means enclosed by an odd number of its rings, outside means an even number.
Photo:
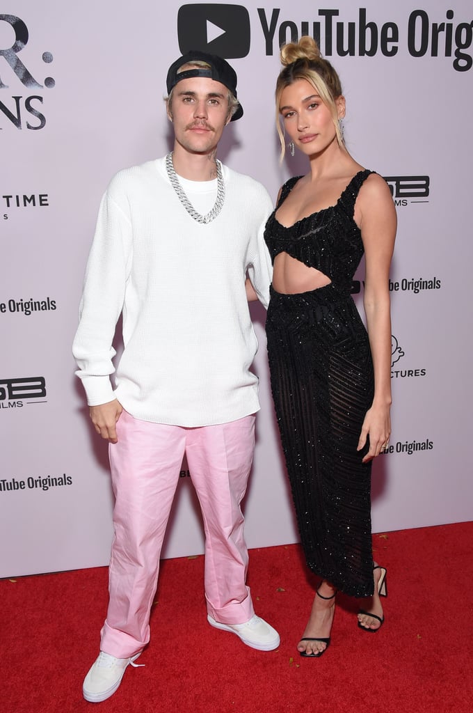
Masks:
[[[258,652],[207,624],[203,558],[162,563],[144,668],[128,668],[118,692],[83,700],[98,655],[107,569],[1,580],[1,710],[4,713],[470,713],[473,707],[473,523],[374,535],[388,568],[385,625],[356,625],[338,597],[332,643],[319,660],[296,643],[314,581],[298,545],[251,550],[256,612],[281,635]]]

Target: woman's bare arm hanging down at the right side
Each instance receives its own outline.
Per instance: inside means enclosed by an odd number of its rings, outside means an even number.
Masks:
[[[391,432],[391,318],[389,272],[393,257],[397,216],[393,198],[385,180],[377,174],[363,184],[358,195],[355,220],[361,229],[365,248],[365,307],[370,339],[375,392],[361,429],[358,450],[370,438],[370,448],[363,462],[378,456]],[[357,215],[358,213],[358,215]]]

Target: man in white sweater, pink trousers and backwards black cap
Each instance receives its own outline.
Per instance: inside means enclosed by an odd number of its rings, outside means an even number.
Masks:
[[[250,647],[279,645],[278,633],[254,614],[240,509],[259,410],[245,277],[267,304],[262,233],[271,200],[261,184],[216,158],[225,125],[243,114],[227,61],[187,53],[170,67],[167,92],[174,149],[110,182],[73,346],[95,430],[110,442],[115,493],[110,602],[100,655],[83,684],[92,702],[118,689],[150,639],[184,452],[204,519],[207,619]],[[113,389],[120,313],[124,351]]]

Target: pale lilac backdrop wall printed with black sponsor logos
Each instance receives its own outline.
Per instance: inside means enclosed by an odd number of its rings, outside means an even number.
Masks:
[[[341,75],[348,150],[385,177],[397,206],[393,434],[373,469],[373,528],[472,518],[471,2],[4,0],[0,577],[108,563],[107,445],[90,428],[71,344],[108,181],[172,146],[167,68],[189,48],[229,58],[244,117],[225,130],[219,158],[276,198],[286,178],[308,168],[297,155],[279,164],[274,125],[279,46],[301,34],[318,39]],[[362,311],[363,270],[353,294]],[[264,309],[251,311],[261,411],[245,512],[255,548],[298,535],[269,391]],[[164,556],[202,551],[184,461]]]

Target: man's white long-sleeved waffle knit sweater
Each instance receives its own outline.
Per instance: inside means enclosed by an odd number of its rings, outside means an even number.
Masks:
[[[73,344],[88,404],[118,399],[136,419],[209,426],[259,410],[250,371],[258,344],[244,280],[265,306],[271,261],[263,240],[272,202],[249,176],[222,167],[225,200],[201,225],[170,184],[165,159],[120,171],[100,203]],[[180,178],[205,214],[217,180]],[[123,317],[115,372],[112,342]]]

